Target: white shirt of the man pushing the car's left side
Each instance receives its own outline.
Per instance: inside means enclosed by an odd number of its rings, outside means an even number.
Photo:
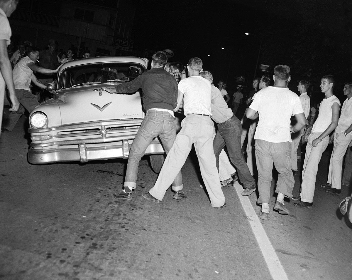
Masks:
[[[28,56],[20,59],[12,70],[13,83],[17,90],[30,90],[31,77],[33,71],[27,66],[28,63],[33,62]]]

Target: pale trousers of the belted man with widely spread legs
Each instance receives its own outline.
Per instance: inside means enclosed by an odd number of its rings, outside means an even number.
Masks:
[[[215,129],[210,117],[187,115],[182,121],[181,131],[166,156],[158,179],[149,193],[162,200],[166,190],[186,162],[192,144],[198,157],[201,175],[213,207],[224,205],[225,196],[219,181],[219,172],[213,148]]]

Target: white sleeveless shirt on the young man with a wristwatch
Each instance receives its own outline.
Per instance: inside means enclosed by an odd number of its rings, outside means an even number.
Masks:
[[[341,105],[339,99],[336,96],[330,96],[329,98],[324,98],[319,106],[319,115],[313,124],[312,132],[324,132],[331,123],[332,108],[334,103]]]

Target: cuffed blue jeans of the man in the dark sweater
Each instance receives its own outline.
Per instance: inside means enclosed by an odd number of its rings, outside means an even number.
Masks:
[[[128,156],[124,187],[136,188],[140,159],[144,156],[150,142],[157,136],[159,136],[164,150],[168,154],[176,139],[175,118],[169,112],[150,109],[144,117],[136,138],[133,140]],[[182,175],[180,171],[172,183],[172,189],[182,190],[182,188]]]

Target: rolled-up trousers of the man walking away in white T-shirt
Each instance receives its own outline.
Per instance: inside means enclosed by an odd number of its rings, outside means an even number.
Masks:
[[[275,192],[291,198],[295,184],[291,171],[291,143],[273,143],[256,139],[254,145],[258,169],[258,203],[269,203],[273,163],[279,173]]]

